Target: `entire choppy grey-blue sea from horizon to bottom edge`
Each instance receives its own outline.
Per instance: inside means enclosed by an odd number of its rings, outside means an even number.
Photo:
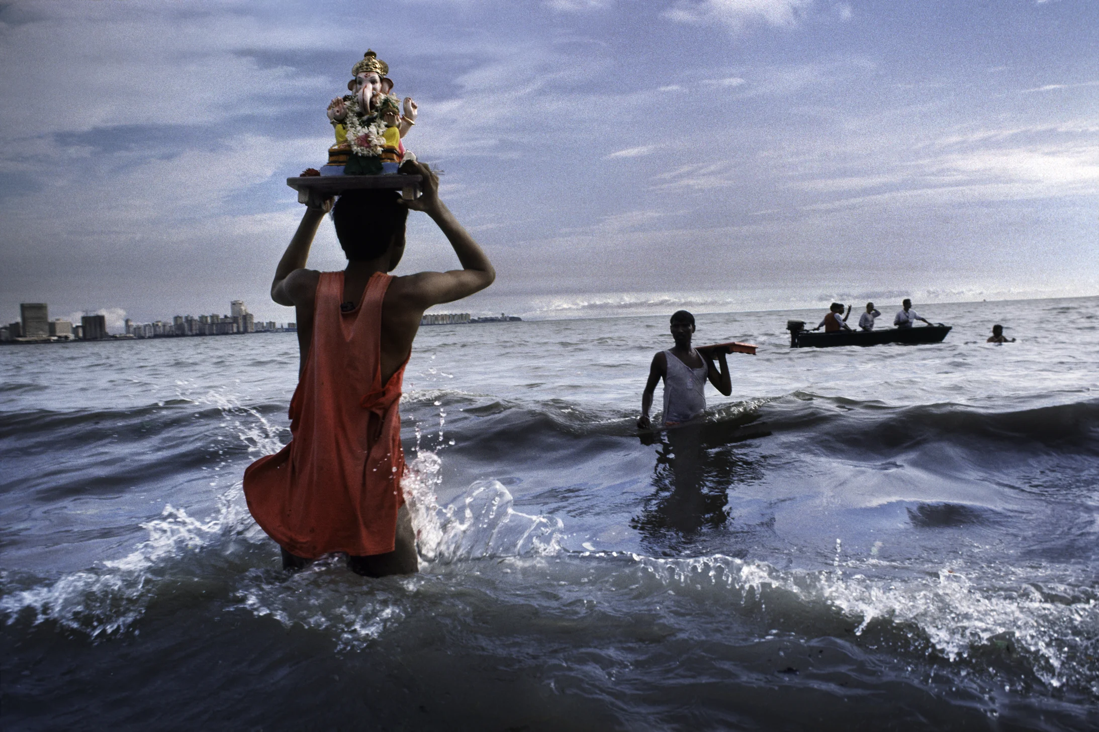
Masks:
[[[700,316],[759,354],[645,436],[664,317],[425,327],[421,574],[381,581],[285,575],[244,506],[292,336],[0,349],[4,728],[1092,728],[1097,308],[824,350]]]

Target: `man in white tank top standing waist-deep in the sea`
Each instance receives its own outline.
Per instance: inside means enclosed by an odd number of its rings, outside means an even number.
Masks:
[[[725,352],[717,353],[721,371],[714,367],[714,353],[691,348],[691,336],[695,335],[695,316],[687,311],[677,311],[671,315],[671,338],[675,348],[658,351],[653,357],[648,369],[648,382],[641,397],[640,429],[648,429],[652,423],[648,410],[653,406],[653,394],[656,383],[664,380],[664,424],[680,425],[698,417],[706,409],[706,382],[729,396],[733,393],[733,384],[729,378],[729,363]]]

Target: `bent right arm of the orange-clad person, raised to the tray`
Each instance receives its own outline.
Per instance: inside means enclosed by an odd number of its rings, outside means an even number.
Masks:
[[[492,284],[496,279],[492,262],[439,199],[439,177],[421,162],[406,162],[401,170],[423,176],[420,196],[412,201],[402,199],[401,203],[412,211],[422,211],[431,216],[446,235],[462,264],[459,270],[409,275],[409,292],[417,305],[426,309],[432,305],[460,300]]]

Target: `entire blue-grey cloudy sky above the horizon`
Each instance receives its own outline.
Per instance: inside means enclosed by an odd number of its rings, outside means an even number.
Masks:
[[[1095,0],[104,0],[0,10],[0,319],[292,318],[285,179],[367,47],[499,271],[444,309],[1099,294]]]

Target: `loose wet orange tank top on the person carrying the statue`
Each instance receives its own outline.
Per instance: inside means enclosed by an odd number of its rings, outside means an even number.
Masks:
[[[256,523],[291,554],[393,551],[400,481],[401,364],[381,383],[381,301],[392,277],[375,273],[343,313],[343,272],[322,272],[306,369],[290,399],[290,442],[244,471]]]

